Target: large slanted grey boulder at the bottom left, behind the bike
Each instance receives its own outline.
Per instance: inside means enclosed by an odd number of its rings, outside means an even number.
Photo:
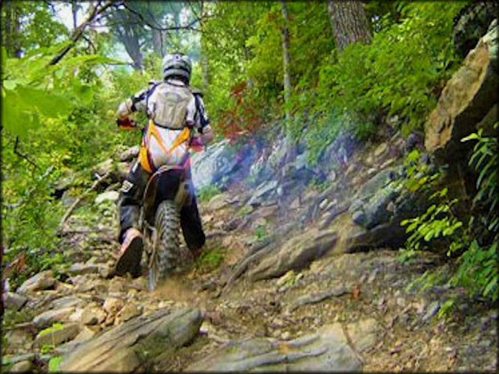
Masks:
[[[161,309],[112,328],[62,356],[62,372],[133,372],[150,360],[166,360],[198,333],[199,309]]]

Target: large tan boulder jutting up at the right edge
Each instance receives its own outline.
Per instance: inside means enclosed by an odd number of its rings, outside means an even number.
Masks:
[[[466,56],[463,66],[447,82],[437,107],[426,122],[425,147],[439,162],[466,160],[461,139],[475,131],[476,124],[498,101],[498,25]]]

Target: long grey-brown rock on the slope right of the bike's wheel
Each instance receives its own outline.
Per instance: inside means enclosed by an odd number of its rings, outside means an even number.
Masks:
[[[288,270],[300,270],[324,255],[336,240],[336,231],[312,228],[289,239],[277,251],[270,252],[249,272],[250,279],[279,277]]]

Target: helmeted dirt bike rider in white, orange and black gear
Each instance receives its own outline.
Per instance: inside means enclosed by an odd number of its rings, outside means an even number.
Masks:
[[[163,81],[150,82],[148,89],[139,91],[119,105],[117,123],[121,128],[138,128],[129,119],[135,111],[146,111],[149,125],[144,129],[138,159],[123,182],[118,199],[121,248],[116,263],[116,274],[130,272],[140,276],[143,250],[142,233],[138,220],[142,195],[148,178],[160,166],[183,165],[190,179],[188,148],[200,147],[213,140],[213,131],[205,112],[202,95],[189,87],[192,63],[182,53],[163,58]],[[191,136],[191,129],[198,136]],[[180,212],[181,227],[187,246],[197,257],[205,244],[205,234],[198,212],[196,198]]]

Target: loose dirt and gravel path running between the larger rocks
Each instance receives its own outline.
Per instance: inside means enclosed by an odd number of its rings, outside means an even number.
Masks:
[[[243,214],[241,206],[247,196],[242,190],[231,191],[230,196],[232,203],[214,199],[210,204],[201,204],[208,236],[204,259],[192,264],[187,255],[186,269],[152,293],[147,291],[145,273],[131,280],[109,277],[104,270],[113,263],[118,248],[114,202],[97,206],[92,216],[75,214],[68,221],[63,243],[72,270],[61,271],[73,275],[61,278],[53,290],[36,292],[28,302],[29,308],[23,309],[23,317],[17,318],[17,326],[54,309],[51,303],[63,296],[84,301],[74,310],[76,319],[87,318],[87,309],[99,316],[99,310],[108,306],[103,319],[88,324],[90,334],[158,308],[197,306],[204,315],[198,337],[178,350],[175,360],[155,367],[160,371],[182,371],[228,341],[255,337],[288,341],[327,324],[339,322],[346,327],[374,319],[375,334],[366,342],[368,349],[361,352],[362,347],[352,346],[366,371],[497,368],[497,311],[487,309],[480,300],[467,299],[459,294],[460,290],[406,292],[407,285],[418,275],[439,266],[431,254],[422,254],[413,263],[402,265],[397,252],[381,248],[368,253],[330,253],[307,269],[277,279],[252,282],[243,273],[223,291],[251,245],[264,239],[278,243],[279,236],[291,235],[285,221],[296,220],[301,214],[295,212],[283,218],[281,211],[271,206]],[[246,225],[242,224],[245,216],[251,216]],[[236,218],[239,224],[228,230],[229,222]],[[258,226],[264,226],[267,232],[258,233]],[[451,295],[458,295],[458,312],[447,319],[431,318]],[[119,304],[121,311],[110,308],[111,302]],[[127,312],[123,312],[125,309]],[[50,357],[67,352],[71,344],[69,341],[37,356],[35,369],[46,371]],[[12,348],[7,354],[25,352],[29,350]]]

